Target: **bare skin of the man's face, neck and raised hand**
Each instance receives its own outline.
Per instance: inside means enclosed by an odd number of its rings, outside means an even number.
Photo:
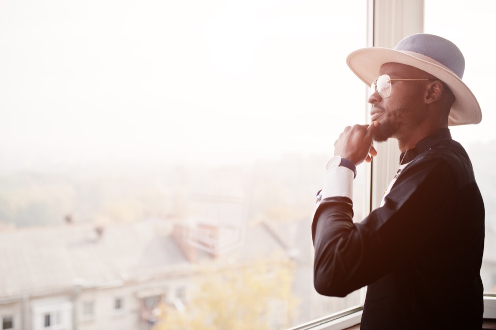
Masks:
[[[370,162],[377,151],[372,141],[398,140],[401,152],[415,147],[418,141],[441,128],[448,127],[448,115],[454,96],[433,75],[413,66],[386,63],[380,74],[391,79],[433,79],[429,81],[393,81],[391,95],[382,98],[375,91],[368,102],[372,105],[372,124],[348,126],[334,143],[334,155],[359,165]]]

